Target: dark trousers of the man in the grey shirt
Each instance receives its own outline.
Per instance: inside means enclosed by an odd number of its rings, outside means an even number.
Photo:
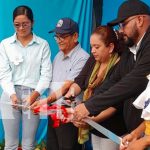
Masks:
[[[53,121],[48,119],[47,150],[81,150],[78,143],[78,128],[72,123],[52,127]]]

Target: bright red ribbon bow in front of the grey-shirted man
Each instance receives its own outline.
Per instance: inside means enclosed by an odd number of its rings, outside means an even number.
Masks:
[[[33,112],[36,114],[38,114],[40,112],[41,113],[47,113],[50,110],[56,110],[56,113],[47,114],[47,115],[51,116],[51,118],[53,120],[53,127],[54,128],[59,127],[60,124],[67,123],[68,113],[67,113],[67,110],[64,106],[60,106],[57,104],[54,104],[52,106],[48,106],[47,104],[45,104],[45,105],[42,105],[41,107],[34,109]]]

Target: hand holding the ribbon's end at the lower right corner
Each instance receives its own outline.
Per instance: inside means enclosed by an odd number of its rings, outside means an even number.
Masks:
[[[133,142],[137,140],[137,138],[133,135],[133,134],[127,134],[126,136],[124,136],[122,138],[122,142],[121,142],[121,145],[120,145],[120,150],[126,150],[129,143]]]

